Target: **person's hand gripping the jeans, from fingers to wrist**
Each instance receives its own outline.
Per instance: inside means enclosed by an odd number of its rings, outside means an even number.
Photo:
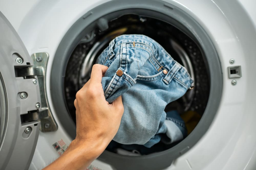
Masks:
[[[109,104],[104,97],[101,79],[108,67],[95,64],[91,79],[77,92],[76,142],[99,142],[99,152],[103,152],[114,138],[124,112],[122,97]]]

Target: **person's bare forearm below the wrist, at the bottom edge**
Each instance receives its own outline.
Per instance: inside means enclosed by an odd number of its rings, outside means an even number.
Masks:
[[[44,168],[49,169],[86,169],[105,149],[101,141],[73,140],[68,149],[53,163]]]

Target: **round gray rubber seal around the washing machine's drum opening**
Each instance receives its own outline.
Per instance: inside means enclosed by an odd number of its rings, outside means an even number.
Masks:
[[[109,163],[115,169],[163,169],[172,164],[172,161],[187,152],[206,133],[212,123],[222,93],[222,71],[216,49],[200,24],[178,7],[163,1],[130,0],[110,1],[95,7],[78,19],[63,37],[54,57],[51,70],[51,95],[57,115],[68,134],[75,138],[76,127],[71,120],[65,105],[63,89],[67,62],[78,42],[92,30],[100,18],[112,20],[125,14],[137,14],[166,21],[182,30],[198,43],[204,53],[210,77],[210,94],[208,104],[200,122],[193,132],[176,146],[159,153],[143,156],[119,155],[104,151],[98,159]],[[104,24],[98,24],[105,29]],[[60,88],[62,87],[62,88]]]

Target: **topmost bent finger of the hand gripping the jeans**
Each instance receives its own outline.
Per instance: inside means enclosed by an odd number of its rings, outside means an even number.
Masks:
[[[108,70],[107,66],[94,64],[92,66],[91,83],[101,83],[102,76]]]

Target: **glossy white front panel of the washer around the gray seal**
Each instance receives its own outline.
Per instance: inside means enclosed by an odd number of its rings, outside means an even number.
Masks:
[[[52,56],[55,55],[61,39],[78,18],[104,2],[42,1],[31,8],[23,19],[18,33],[25,42],[29,53],[46,51],[50,56],[47,68],[48,97],[51,96],[49,75],[53,61]],[[218,51],[224,80],[221,105],[207,134],[167,169],[255,169],[251,163],[253,161],[250,161],[255,158],[256,143],[254,133],[256,105],[253,103],[256,95],[254,89],[256,82],[253,78],[255,77],[253,70],[256,63],[255,23],[251,22],[246,9],[241,7],[237,1],[198,0],[195,3],[186,0],[178,2],[166,0],[166,2],[185,10],[207,31]],[[250,5],[244,7],[255,5],[255,2],[251,2]],[[42,14],[44,15],[42,16]],[[235,86],[231,85],[231,79],[228,78],[227,73],[227,67],[231,66],[229,63],[231,58],[235,59],[235,64],[241,65],[243,72],[243,76],[236,79],[237,85]],[[55,119],[59,125],[56,116]],[[42,138],[48,142],[48,148],[45,146],[40,150],[41,143],[38,143],[37,156],[41,156],[44,162],[53,160],[57,153],[54,154],[54,148],[51,145],[60,137],[70,140],[61,126],[55,133],[43,134]],[[50,151],[48,152],[50,154],[46,154],[47,151]],[[254,157],[252,157],[253,155]],[[34,157],[35,160],[37,158]],[[105,166],[97,160],[94,164],[105,170],[111,169],[110,166]],[[41,165],[36,166],[41,167]]]

